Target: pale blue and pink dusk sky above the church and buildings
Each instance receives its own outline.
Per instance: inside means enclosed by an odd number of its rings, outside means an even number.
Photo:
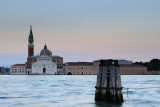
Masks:
[[[64,62],[160,58],[160,0],[0,0],[0,66],[24,63],[32,25]]]

